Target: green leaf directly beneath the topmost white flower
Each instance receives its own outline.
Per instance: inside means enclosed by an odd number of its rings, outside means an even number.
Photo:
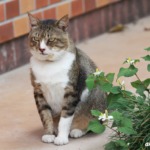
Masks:
[[[130,65],[129,68],[120,68],[118,77],[131,77],[137,73],[138,69],[134,65]]]

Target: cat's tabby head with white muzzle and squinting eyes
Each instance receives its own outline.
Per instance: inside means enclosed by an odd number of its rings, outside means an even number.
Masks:
[[[39,20],[28,14],[31,31],[29,46],[31,54],[39,60],[55,61],[61,58],[69,47],[68,15],[60,20]]]

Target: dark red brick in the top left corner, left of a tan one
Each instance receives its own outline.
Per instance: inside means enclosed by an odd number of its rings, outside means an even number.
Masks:
[[[18,0],[13,0],[6,3],[6,18],[10,19],[19,15],[19,2]]]

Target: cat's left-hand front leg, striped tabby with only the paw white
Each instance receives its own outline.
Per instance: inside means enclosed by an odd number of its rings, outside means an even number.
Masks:
[[[55,135],[53,134],[53,118],[51,114],[51,107],[45,100],[40,86],[37,87],[36,85],[36,87],[34,87],[34,98],[44,127],[42,141],[45,143],[52,143],[54,142]]]

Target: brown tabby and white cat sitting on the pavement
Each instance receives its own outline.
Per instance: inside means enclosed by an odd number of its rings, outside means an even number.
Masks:
[[[28,16],[31,83],[44,127],[42,141],[64,145],[69,135],[79,138],[87,133],[90,110],[104,111],[106,94],[86,87],[87,76],[97,66],[71,40],[68,15],[59,20]]]

